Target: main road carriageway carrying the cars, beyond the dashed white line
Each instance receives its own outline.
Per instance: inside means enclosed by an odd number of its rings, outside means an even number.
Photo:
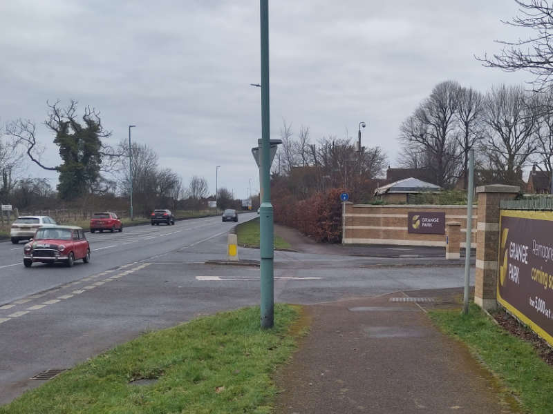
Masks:
[[[240,221],[257,217],[240,215]],[[91,244],[91,262],[75,262],[71,269],[63,264],[23,266],[26,242],[0,242],[0,305],[61,284],[73,282],[103,270],[137,262],[170,250],[226,233],[234,223],[223,223],[220,216],[176,221],[174,226],[125,227],[122,233],[86,233]]]

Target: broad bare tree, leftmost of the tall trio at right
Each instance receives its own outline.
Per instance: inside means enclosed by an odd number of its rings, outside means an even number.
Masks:
[[[455,135],[459,89],[453,81],[438,83],[400,127],[400,141],[404,147],[425,153],[426,167],[438,186],[451,186],[459,175],[460,151]]]

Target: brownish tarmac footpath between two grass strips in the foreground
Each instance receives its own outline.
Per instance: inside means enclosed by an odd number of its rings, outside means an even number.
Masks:
[[[447,304],[451,293],[398,292],[306,306],[310,334],[279,374],[276,412],[520,412],[500,400],[496,381],[464,345],[431,324],[425,302],[395,302],[424,295]]]

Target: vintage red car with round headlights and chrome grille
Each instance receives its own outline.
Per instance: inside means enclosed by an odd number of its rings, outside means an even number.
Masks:
[[[84,230],[75,226],[44,226],[23,248],[23,264],[34,262],[65,263],[73,266],[75,260],[90,262],[91,246],[84,237]]]

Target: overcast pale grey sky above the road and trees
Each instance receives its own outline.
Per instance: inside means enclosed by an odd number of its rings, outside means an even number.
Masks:
[[[496,39],[527,37],[500,22],[513,0],[270,1],[271,136],[283,119],[324,136],[357,136],[395,165],[400,123],[440,81],[485,92],[527,73],[483,68]],[[148,144],[160,166],[245,197],[259,175],[259,1],[0,1],[0,121],[46,117],[46,100],[102,113],[112,143]],[[39,128],[45,164],[59,164]],[[32,167],[29,174],[55,174]]]

